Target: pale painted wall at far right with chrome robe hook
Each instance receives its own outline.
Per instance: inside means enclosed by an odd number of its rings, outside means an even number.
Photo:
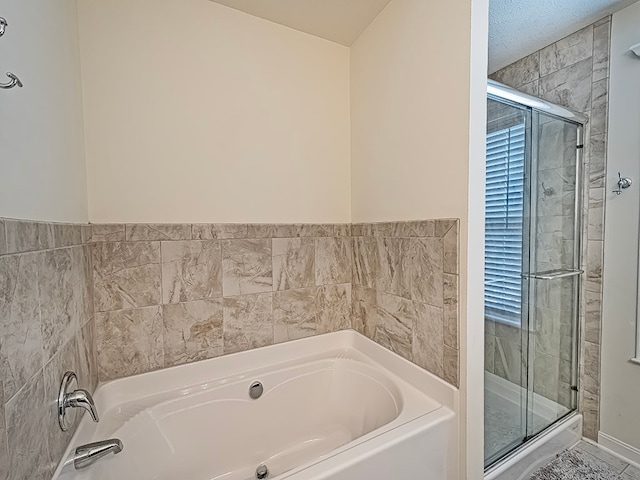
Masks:
[[[640,365],[629,359],[635,352],[638,296],[640,59],[628,48],[640,42],[638,24],[640,2],[616,13],[611,30],[599,434],[600,442],[635,462],[640,462]],[[620,196],[611,193],[618,171],[634,181]]]

